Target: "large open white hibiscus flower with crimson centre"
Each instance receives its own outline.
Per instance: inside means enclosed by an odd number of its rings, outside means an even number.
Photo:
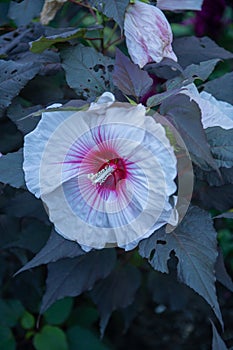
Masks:
[[[46,111],[25,137],[28,189],[63,237],[126,250],[170,222],[176,158],[145,107],[103,94],[86,111]]]

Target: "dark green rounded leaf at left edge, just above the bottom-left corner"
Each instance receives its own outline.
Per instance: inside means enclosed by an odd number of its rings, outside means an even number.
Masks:
[[[24,308],[20,301],[15,299],[0,299],[0,326],[14,327],[23,312]]]

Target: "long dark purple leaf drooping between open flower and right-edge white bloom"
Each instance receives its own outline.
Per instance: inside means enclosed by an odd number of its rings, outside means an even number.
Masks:
[[[201,123],[201,111],[188,96],[178,94],[166,99],[160,107],[160,113],[169,117],[176,126],[186,147],[193,156],[193,161],[201,167],[218,171]]]

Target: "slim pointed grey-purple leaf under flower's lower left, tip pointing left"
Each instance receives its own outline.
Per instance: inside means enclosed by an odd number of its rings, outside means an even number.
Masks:
[[[31,261],[17,271],[17,274],[36,266],[56,262],[64,258],[74,258],[84,254],[85,252],[78,243],[63,238],[53,229],[45,246]]]

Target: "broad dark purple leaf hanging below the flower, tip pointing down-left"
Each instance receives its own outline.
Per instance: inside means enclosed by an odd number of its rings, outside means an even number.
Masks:
[[[115,250],[103,249],[50,263],[40,312],[65,296],[77,296],[90,290],[96,281],[110,274],[115,262]]]

